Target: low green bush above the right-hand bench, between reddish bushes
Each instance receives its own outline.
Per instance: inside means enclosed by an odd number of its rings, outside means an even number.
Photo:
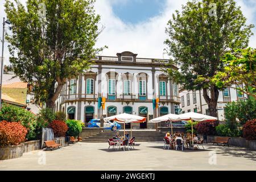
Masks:
[[[222,137],[241,137],[242,130],[240,128],[230,129],[230,127],[225,123],[216,126],[216,133],[218,136]]]

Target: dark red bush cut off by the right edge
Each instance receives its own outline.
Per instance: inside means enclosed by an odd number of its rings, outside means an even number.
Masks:
[[[247,140],[256,140],[256,119],[247,121],[243,125],[243,137]]]

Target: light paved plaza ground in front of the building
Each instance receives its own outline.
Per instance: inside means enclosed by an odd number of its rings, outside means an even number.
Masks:
[[[45,156],[45,158],[44,158]],[[45,159],[45,160],[44,160]],[[45,164],[44,164],[45,162]],[[76,143],[54,151],[1,160],[0,170],[255,170],[256,151],[206,144],[205,150],[163,150],[163,143],[136,143],[108,151],[108,143]]]

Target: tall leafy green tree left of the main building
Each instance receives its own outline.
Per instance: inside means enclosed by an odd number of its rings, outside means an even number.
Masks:
[[[35,84],[35,97],[47,107],[54,107],[67,80],[88,69],[88,60],[102,50],[94,48],[100,34],[94,1],[28,0],[24,7],[6,0],[10,63],[22,81]]]

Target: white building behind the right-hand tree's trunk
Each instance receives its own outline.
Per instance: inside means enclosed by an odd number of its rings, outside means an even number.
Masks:
[[[240,85],[243,86],[243,85]],[[232,85],[236,87],[236,85]],[[203,90],[189,91],[188,90],[179,90],[181,104],[180,108],[182,113],[188,113],[190,111],[207,114],[209,115],[208,105],[205,102],[203,97]],[[208,96],[210,97],[210,92],[208,90]],[[217,102],[217,113],[218,119],[220,121],[224,120],[224,108],[228,102],[244,100],[247,98],[247,95],[241,94],[237,89],[226,88],[220,91]]]

